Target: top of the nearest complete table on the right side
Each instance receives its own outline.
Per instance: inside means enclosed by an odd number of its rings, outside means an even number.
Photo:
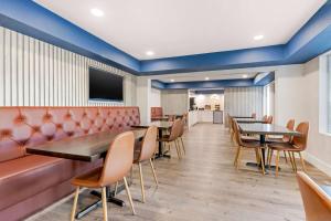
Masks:
[[[298,131],[273,124],[239,124],[239,128],[243,134],[300,136]]]

